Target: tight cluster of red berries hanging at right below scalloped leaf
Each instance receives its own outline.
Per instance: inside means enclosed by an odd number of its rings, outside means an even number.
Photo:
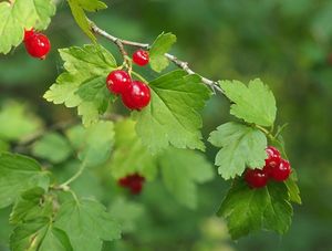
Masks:
[[[264,187],[270,179],[282,182],[291,174],[291,166],[288,160],[282,159],[278,149],[272,146],[267,148],[268,158],[262,169],[247,168],[245,180],[252,188]]]

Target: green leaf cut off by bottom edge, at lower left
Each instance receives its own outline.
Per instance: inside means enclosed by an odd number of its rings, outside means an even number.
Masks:
[[[39,218],[19,224],[10,238],[11,250],[15,251],[72,251],[66,233],[54,228],[49,218]]]

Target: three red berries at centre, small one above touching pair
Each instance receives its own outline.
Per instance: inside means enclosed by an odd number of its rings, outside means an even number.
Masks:
[[[148,63],[148,52],[138,50],[133,54],[134,63],[144,66]],[[111,72],[106,79],[110,92],[122,96],[123,104],[129,109],[142,109],[149,104],[149,87],[141,82],[133,81],[129,74],[123,70]]]

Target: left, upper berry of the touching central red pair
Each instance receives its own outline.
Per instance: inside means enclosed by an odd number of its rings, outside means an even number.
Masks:
[[[106,79],[107,88],[114,94],[123,94],[131,83],[129,74],[123,70],[111,72]]]

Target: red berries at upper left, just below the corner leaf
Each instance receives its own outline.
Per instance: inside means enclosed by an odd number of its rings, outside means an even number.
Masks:
[[[40,60],[44,60],[51,50],[49,38],[33,29],[24,31],[24,45],[31,56]]]

